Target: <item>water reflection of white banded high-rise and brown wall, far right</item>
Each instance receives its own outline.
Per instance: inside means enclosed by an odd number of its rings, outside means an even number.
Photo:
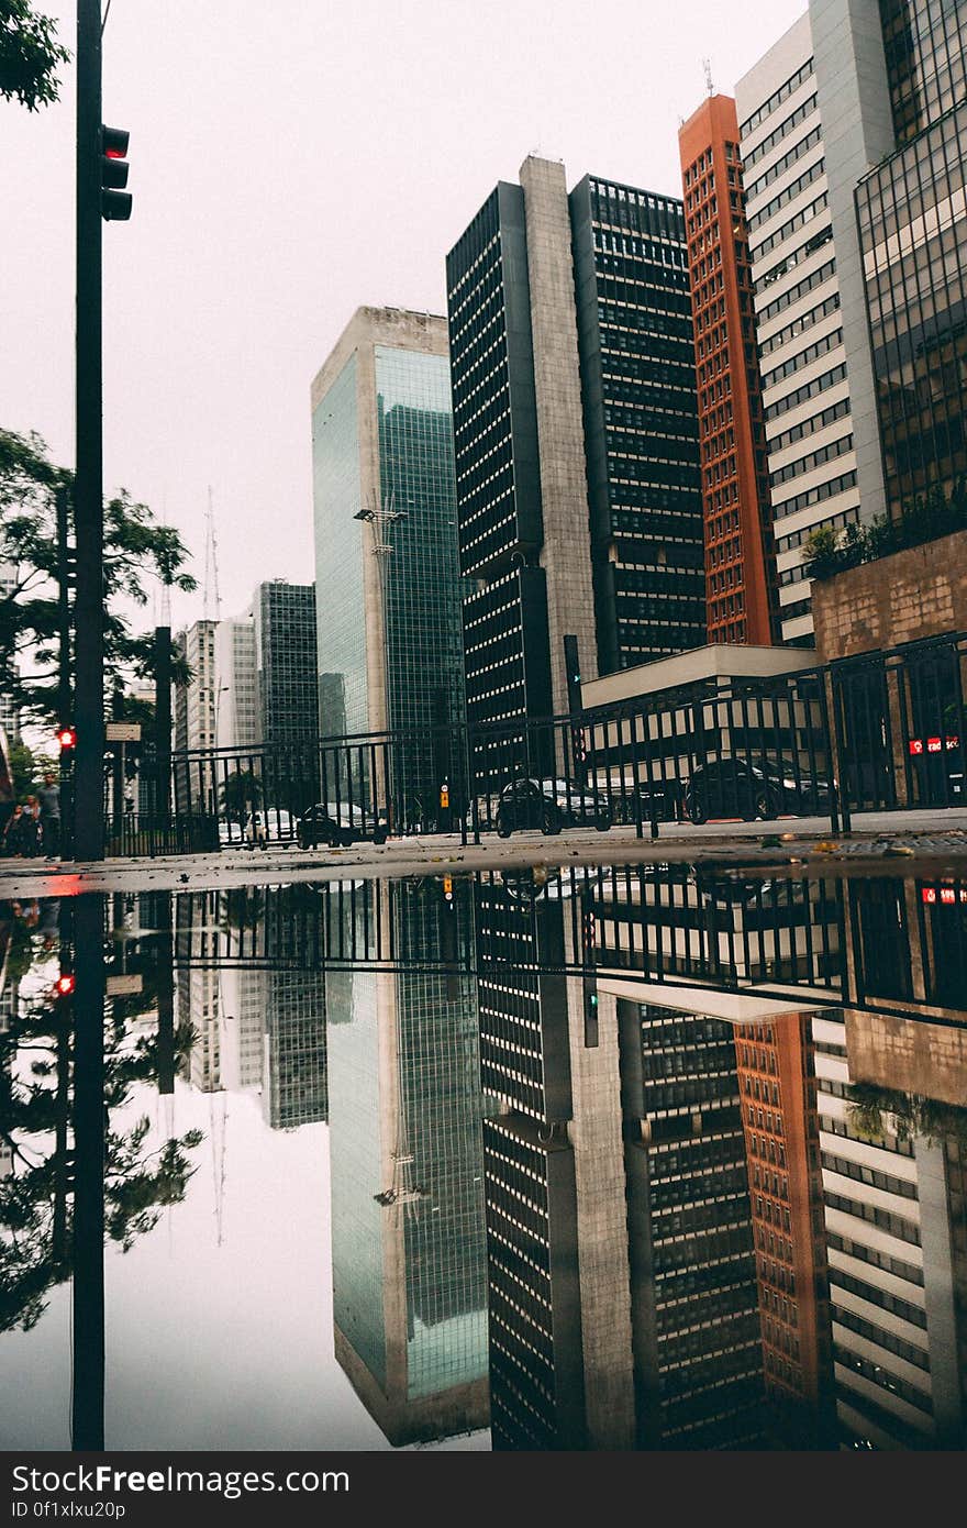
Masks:
[[[929,1039],[900,1024],[923,1028],[849,1012],[813,1024],[837,1412],[849,1442],[964,1447],[967,1109],[901,1091],[914,1067],[943,1102],[964,1051],[949,1038],[933,1080]]]

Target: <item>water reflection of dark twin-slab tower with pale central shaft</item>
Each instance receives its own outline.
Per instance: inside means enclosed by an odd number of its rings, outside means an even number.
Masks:
[[[732,1031],[602,986],[594,1034],[587,984],[538,969],[581,961],[582,923],[477,886],[483,1077],[504,1106],[484,1122],[493,1444],[755,1445]]]

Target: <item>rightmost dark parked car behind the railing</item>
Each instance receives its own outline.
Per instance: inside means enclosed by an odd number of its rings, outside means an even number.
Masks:
[[[825,813],[830,807],[830,781],[796,773],[791,759],[750,759],[732,756],[709,759],[692,770],[684,787],[684,810],[692,822],[709,817],[778,817],[782,813]]]

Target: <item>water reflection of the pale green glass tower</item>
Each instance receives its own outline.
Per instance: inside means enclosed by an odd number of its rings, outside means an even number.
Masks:
[[[338,915],[373,917],[379,897],[416,961],[438,947],[425,892],[391,903],[368,883]],[[336,1357],[394,1445],[486,1427],[474,981],[412,969],[327,984]]]

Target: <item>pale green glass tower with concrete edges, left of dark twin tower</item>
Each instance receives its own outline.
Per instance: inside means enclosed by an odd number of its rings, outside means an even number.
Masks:
[[[361,307],[312,384],[312,449],[321,732],[460,721],[445,321]]]

